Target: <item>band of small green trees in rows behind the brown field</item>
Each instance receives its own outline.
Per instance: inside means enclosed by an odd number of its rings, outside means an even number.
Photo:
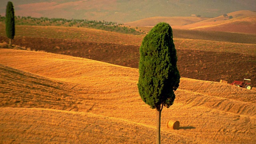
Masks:
[[[0,15],[0,22],[5,21],[5,17]],[[31,16],[15,16],[16,25],[27,26],[69,26],[69,27],[83,27],[83,28],[95,28],[100,30],[128,33],[128,34],[144,34],[142,30],[138,28],[134,29],[130,26],[124,26],[124,24],[118,24],[116,22],[107,22],[105,20],[83,20],[83,19],[64,19],[64,18],[33,18]]]

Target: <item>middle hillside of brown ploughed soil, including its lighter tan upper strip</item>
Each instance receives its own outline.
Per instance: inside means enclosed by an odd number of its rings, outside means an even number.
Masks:
[[[0,23],[0,42],[5,43],[4,26]],[[182,76],[229,83],[249,78],[255,86],[255,34],[173,29],[173,35]],[[92,28],[18,25],[13,43],[26,50],[138,68],[144,36]]]

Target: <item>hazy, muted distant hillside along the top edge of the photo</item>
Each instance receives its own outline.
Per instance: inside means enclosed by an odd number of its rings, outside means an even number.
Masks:
[[[0,1],[5,15],[9,0]],[[12,0],[20,16],[132,22],[155,16],[216,17],[238,10],[255,10],[255,0]]]

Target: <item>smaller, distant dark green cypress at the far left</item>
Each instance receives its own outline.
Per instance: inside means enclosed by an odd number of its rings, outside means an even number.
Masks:
[[[12,45],[12,39],[15,35],[15,19],[14,19],[14,8],[12,2],[8,2],[6,6],[6,36],[10,39],[10,45]]]

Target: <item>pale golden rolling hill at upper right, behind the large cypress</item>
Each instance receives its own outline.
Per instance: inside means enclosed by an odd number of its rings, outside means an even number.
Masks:
[[[256,34],[256,12],[240,10],[214,18],[190,17],[151,17],[124,23],[127,26],[150,27],[159,22],[167,22],[177,30],[220,31]],[[150,30],[149,28],[149,30]],[[145,29],[145,28],[141,28]],[[148,32],[149,30],[146,30]]]

